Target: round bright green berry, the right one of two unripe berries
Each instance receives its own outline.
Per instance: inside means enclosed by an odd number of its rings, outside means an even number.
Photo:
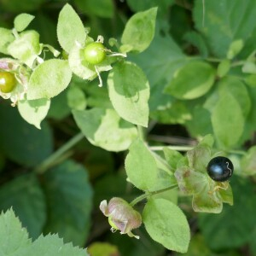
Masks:
[[[106,58],[106,48],[102,43],[93,42],[84,48],[84,60],[90,64],[100,64]]]

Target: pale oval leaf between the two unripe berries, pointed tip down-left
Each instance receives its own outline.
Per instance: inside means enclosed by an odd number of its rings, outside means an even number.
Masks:
[[[49,60],[40,64],[32,73],[27,90],[27,100],[51,98],[67,88],[72,72],[67,61]]]

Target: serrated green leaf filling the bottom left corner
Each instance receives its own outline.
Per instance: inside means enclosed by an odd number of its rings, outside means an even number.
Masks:
[[[14,255],[23,247],[31,244],[26,229],[22,229],[15,212],[10,209],[0,215],[0,253]]]

